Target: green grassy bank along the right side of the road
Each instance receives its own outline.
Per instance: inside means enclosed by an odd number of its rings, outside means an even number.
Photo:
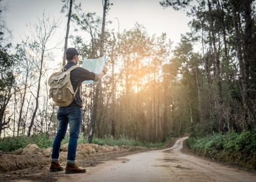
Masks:
[[[205,157],[256,170],[256,129],[189,137],[187,144]]]

